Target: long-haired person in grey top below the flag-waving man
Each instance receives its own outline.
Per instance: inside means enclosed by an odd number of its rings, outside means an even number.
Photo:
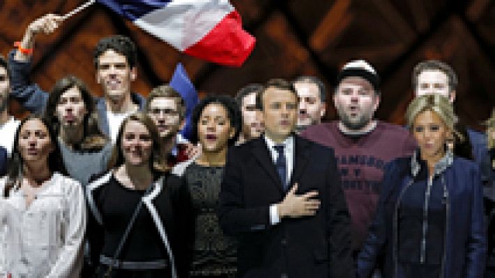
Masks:
[[[45,110],[61,149],[68,174],[83,186],[105,172],[112,144],[98,127],[93,97],[83,81],[66,76],[56,82]]]

